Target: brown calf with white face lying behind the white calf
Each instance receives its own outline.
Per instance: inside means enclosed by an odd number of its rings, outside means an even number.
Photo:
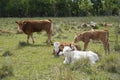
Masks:
[[[78,45],[73,42],[54,42],[53,54],[59,55],[59,52],[63,51],[64,46],[71,46],[71,45],[74,45],[76,50],[81,50],[81,48],[78,47]]]

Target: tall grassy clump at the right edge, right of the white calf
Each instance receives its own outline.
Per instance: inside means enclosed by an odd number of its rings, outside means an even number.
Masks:
[[[111,72],[111,73],[119,73],[120,74],[120,58],[117,54],[110,54],[104,58],[99,66],[101,69]]]

